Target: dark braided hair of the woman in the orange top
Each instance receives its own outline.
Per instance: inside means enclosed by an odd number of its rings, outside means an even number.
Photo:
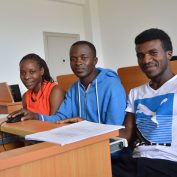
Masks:
[[[45,62],[44,59],[42,59],[39,55],[35,54],[35,53],[30,53],[30,54],[27,54],[25,55],[21,61],[20,61],[20,64],[24,61],[24,60],[32,60],[32,61],[35,61],[39,68],[44,68],[44,75],[42,76],[42,80],[46,80],[46,81],[49,81],[49,82],[54,82],[53,78],[51,77],[50,75],[50,72],[49,72],[49,68],[47,66],[47,63]]]

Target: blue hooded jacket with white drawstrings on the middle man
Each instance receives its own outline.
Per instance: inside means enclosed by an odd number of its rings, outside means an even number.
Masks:
[[[76,81],[68,90],[57,113],[39,115],[39,120],[55,122],[79,116],[85,120],[103,124],[122,125],[126,94],[116,72],[97,68],[98,75],[87,90]]]

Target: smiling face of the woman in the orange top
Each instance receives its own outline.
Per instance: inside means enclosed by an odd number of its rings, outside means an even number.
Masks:
[[[26,59],[20,63],[20,78],[27,89],[37,92],[42,84],[44,69],[36,61]]]

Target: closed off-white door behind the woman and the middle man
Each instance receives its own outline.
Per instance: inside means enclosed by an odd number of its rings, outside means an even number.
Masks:
[[[72,73],[69,49],[79,38],[78,34],[44,32],[45,59],[55,81],[58,75]]]

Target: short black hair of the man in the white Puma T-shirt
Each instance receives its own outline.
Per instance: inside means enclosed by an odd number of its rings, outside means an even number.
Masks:
[[[142,44],[151,40],[159,39],[165,51],[173,51],[173,46],[169,35],[161,29],[150,28],[143,31],[135,38],[135,44]]]

